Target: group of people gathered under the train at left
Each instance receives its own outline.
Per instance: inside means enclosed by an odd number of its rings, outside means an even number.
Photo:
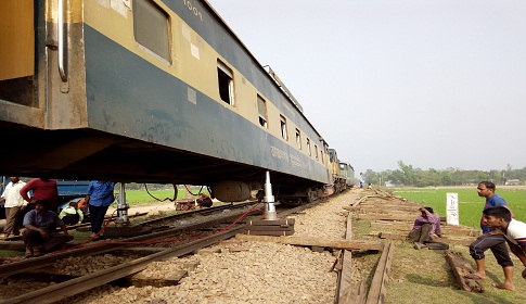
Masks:
[[[5,210],[2,238],[22,233],[26,257],[40,256],[63,248],[67,241],[73,240],[66,225],[82,223],[85,212],[89,214],[91,223],[90,238],[98,239],[107,208],[115,201],[115,182],[93,180],[88,186],[85,199],[70,202],[59,214],[55,180],[34,178],[26,183],[14,176],[10,180],[0,199]],[[56,228],[61,228],[62,232]]]

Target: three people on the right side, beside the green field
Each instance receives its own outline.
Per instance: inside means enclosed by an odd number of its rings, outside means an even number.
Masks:
[[[508,245],[521,263],[526,267],[526,223],[515,219],[515,215],[504,199],[495,193],[491,181],[480,181],[477,186],[478,195],[486,199],[480,218],[483,235],[470,244],[470,255],[475,259],[476,271],[465,275],[474,280],[486,279],[485,252],[489,249],[502,267],[504,282],[496,284],[499,289],[515,291],[513,283],[513,262]],[[414,249],[446,249],[447,244],[436,241],[441,238],[440,217],[432,207],[421,207],[421,215],[414,220],[408,238],[414,242]],[[522,271],[526,279],[526,268]]]

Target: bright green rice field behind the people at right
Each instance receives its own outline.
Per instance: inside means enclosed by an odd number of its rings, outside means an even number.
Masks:
[[[458,193],[460,224],[474,228],[480,227],[480,216],[486,199],[478,197],[476,187],[395,189],[393,193],[415,203],[431,206],[440,216],[446,216],[446,193]],[[526,189],[497,188],[496,193],[506,201],[515,213],[516,219],[526,221]]]

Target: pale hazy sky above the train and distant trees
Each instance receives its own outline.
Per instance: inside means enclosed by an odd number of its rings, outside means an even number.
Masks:
[[[356,172],[526,167],[526,1],[208,2]]]

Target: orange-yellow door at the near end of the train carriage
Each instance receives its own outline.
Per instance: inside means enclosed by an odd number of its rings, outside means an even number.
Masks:
[[[0,100],[35,106],[35,3],[0,1]]]

